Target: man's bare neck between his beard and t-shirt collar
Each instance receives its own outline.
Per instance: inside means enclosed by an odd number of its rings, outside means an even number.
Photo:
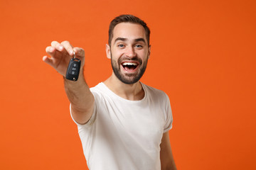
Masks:
[[[135,84],[124,84],[114,73],[103,82],[114,94],[130,101],[139,101],[144,98],[142,84],[137,81]]]

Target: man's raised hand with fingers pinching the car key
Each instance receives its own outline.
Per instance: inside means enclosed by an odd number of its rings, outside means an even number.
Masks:
[[[46,52],[50,57],[43,56],[43,62],[46,62],[51,67],[53,67],[57,72],[59,72],[63,77],[68,69],[68,63],[73,57],[73,52],[75,52],[75,57],[81,60],[80,73],[82,73],[82,67],[85,64],[85,51],[80,47],[73,47],[70,42],[63,41],[61,43],[57,41],[51,42],[51,46],[46,47]]]

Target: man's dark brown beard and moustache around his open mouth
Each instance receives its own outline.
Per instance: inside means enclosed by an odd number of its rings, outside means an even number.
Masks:
[[[137,61],[139,62],[139,71],[137,73],[134,73],[134,74],[122,74],[121,72],[121,63],[122,61],[124,60],[131,60],[131,61]],[[111,54],[111,65],[112,65],[112,69],[113,69],[113,72],[114,74],[116,75],[116,77],[122,81],[124,84],[134,84],[136,83],[137,81],[139,81],[139,79],[142,78],[145,70],[146,70],[146,64],[147,64],[147,61],[148,61],[148,57],[147,59],[143,62],[142,64],[142,60],[139,59],[137,56],[136,57],[133,57],[133,58],[129,58],[129,57],[120,57],[118,59],[118,61],[114,61],[112,59],[112,54]]]

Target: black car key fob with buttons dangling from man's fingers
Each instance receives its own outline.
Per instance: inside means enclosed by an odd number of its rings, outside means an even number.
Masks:
[[[77,81],[79,72],[80,72],[81,61],[75,58],[75,52],[73,53],[74,53],[74,56],[72,59],[70,59],[65,78],[72,81]]]

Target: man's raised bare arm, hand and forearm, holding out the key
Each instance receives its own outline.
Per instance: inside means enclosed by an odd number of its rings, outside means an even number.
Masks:
[[[82,67],[85,64],[85,51],[80,47],[73,47],[68,41],[61,43],[53,41],[51,46],[46,47],[46,52],[50,57],[43,56],[43,61],[56,69],[63,77],[65,77],[73,52],[75,52],[75,57],[81,61],[80,79],[78,81],[64,81],[64,85],[71,103],[71,113],[74,120],[80,124],[86,123],[92,116],[95,99],[85,79],[82,79],[84,78]]]

